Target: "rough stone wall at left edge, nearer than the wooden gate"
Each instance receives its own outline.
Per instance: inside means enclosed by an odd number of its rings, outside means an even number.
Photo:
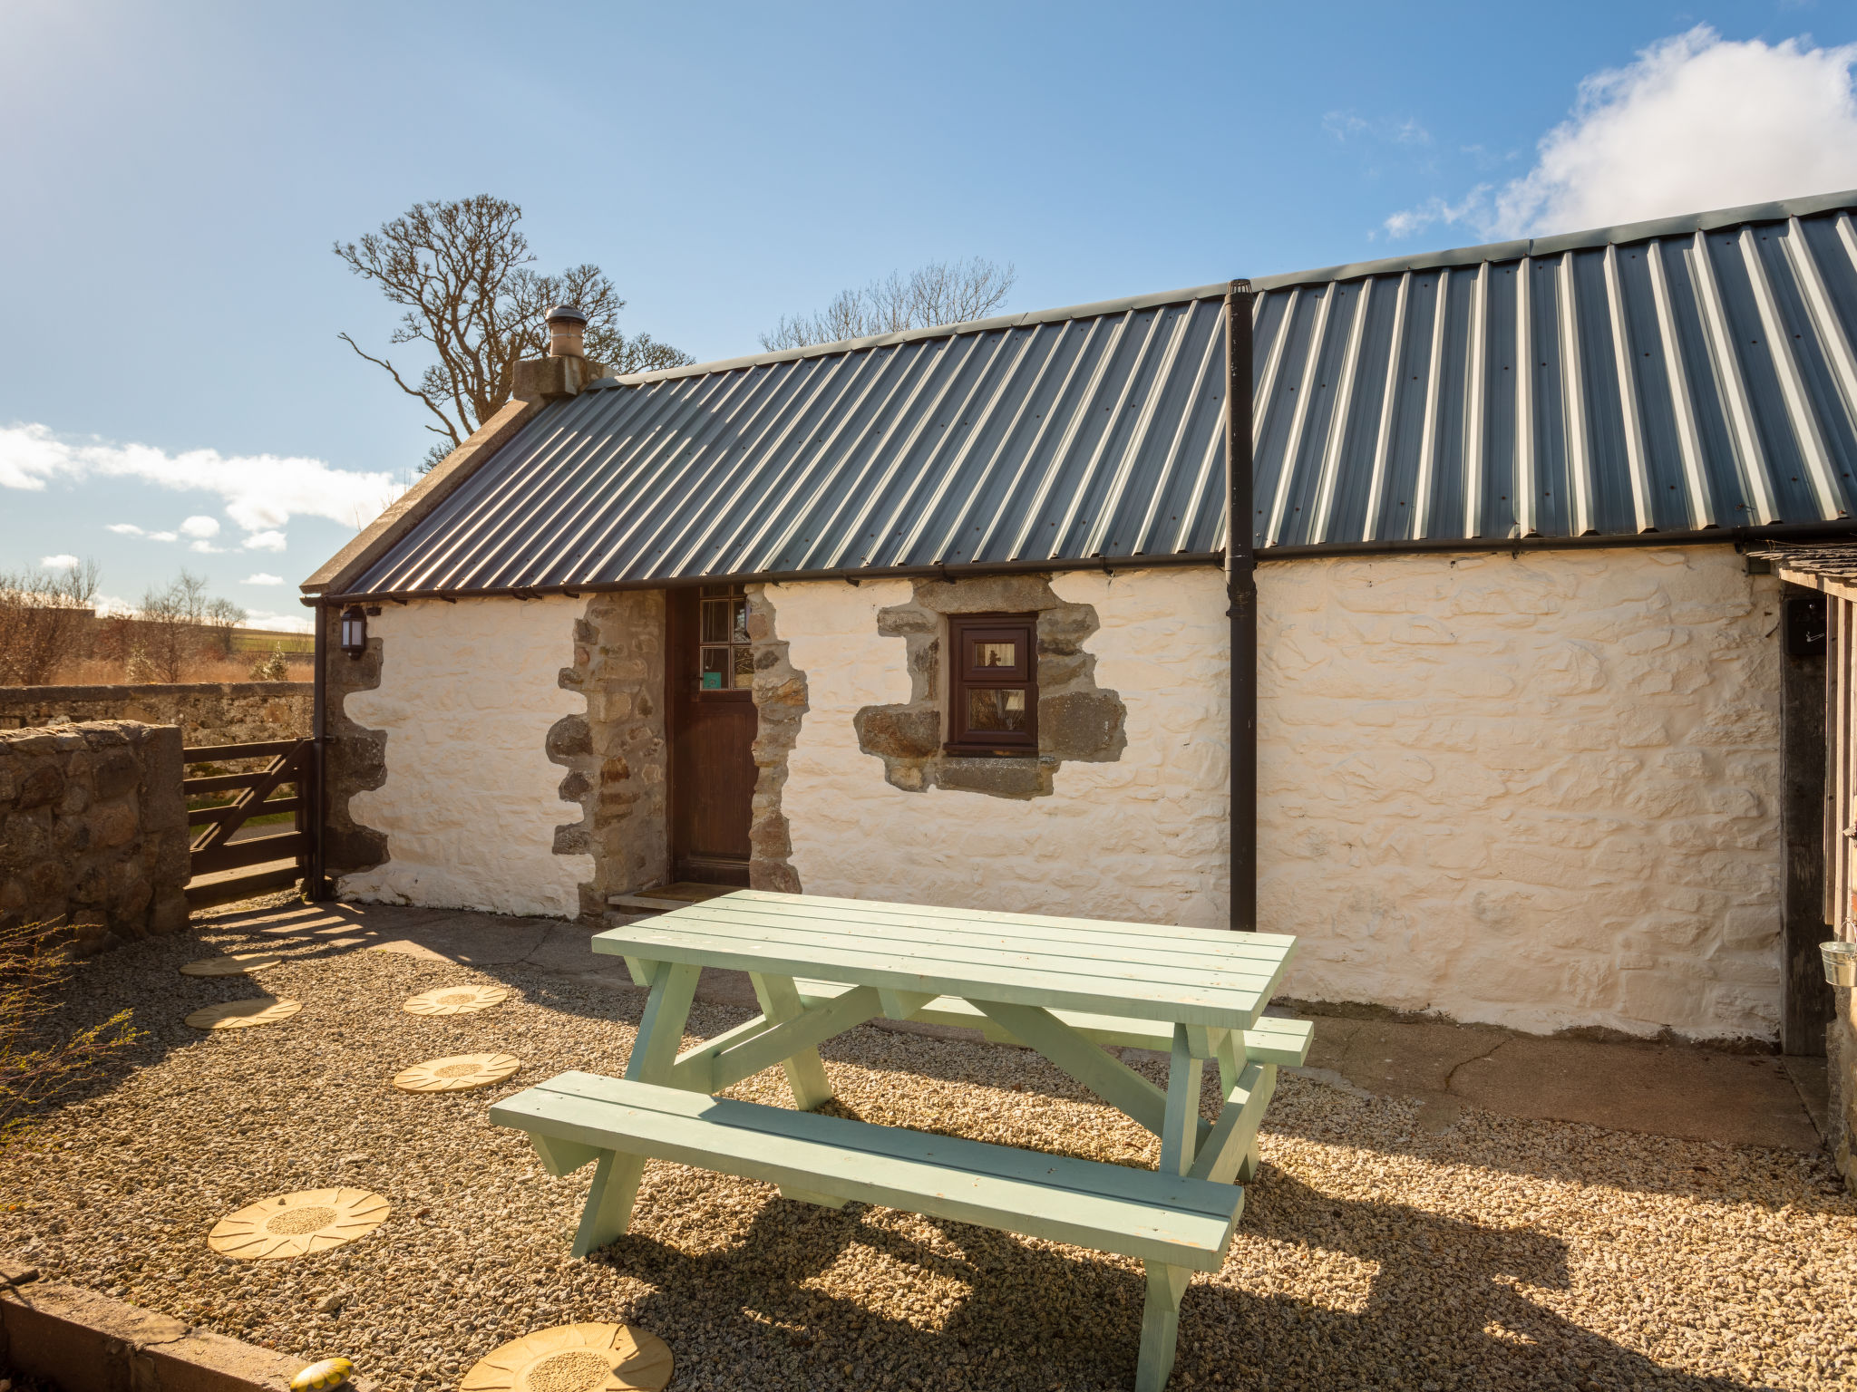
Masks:
[[[78,950],[188,922],[180,729],[97,720],[0,731],[0,921]]]

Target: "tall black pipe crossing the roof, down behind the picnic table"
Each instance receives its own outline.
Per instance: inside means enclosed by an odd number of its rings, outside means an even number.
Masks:
[[[1231,618],[1231,926],[1257,930],[1257,555],[1250,280],[1226,291],[1226,598]]]

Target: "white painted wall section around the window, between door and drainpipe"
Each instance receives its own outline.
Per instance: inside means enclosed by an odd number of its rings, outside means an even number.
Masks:
[[[808,893],[917,904],[1222,926],[1227,915],[1227,640],[1220,575],[1057,575],[1096,607],[1096,685],[1127,705],[1116,763],[1066,763],[1049,798],[904,793],[858,750],[864,705],[910,698],[904,640],[877,611],[906,581],[769,585],[774,631],[806,674],[810,709],[782,793]]]

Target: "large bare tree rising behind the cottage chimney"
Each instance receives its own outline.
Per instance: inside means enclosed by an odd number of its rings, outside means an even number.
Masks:
[[[390,342],[425,343],[438,354],[409,382],[388,358],[340,336],[425,405],[431,416],[425,429],[440,436],[425,457],[427,470],[509,401],[522,358],[548,353],[542,316],[553,304],[574,304],[587,316],[587,356],[617,373],[695,362],[650,334],[620,332],[626,301],[598,265],[572,265],[561,275],[531,271],[535,256],[516,226],[520,221],[520,206],[479,193],[416,202],[379,232],[334,247],[355,275],[403,308]]]

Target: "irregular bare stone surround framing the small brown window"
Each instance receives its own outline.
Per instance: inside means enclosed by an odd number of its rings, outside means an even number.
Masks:
[[[1066,759],[1114,763],[1127,748],[1127,707],[1096,685],[1096,655],[1083,642],[1101,627],[1096,609],[1068,603],[1049,575],[917,579],[910,603],[877,614],[877,631],[903,638],[910,700],[865,705],[852,718],[858,748],[884,765],[884,780],[904,793],[940,787],[995,798],[1051,796]],[[951,614],[1036,614],[1038,754],[964,755],[947,739],[947,650]]]

